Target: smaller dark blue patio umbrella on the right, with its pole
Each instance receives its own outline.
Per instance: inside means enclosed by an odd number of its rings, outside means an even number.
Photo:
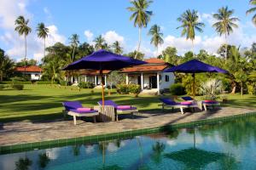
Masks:
[[[207,65],[206,63],[203,63],[197,59],[191,59],[188,62],[185,62],[181,65],[177,65],[170,69],[167,69],[165,72],[192,73],[194,98],[195,98],[195,73],[200,73],[200,72],[221,72],[224,74],[228,73],[228,71],[218,68],[217,66]]]

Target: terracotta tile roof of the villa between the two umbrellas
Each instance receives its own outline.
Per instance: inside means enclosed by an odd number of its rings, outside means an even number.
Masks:
[[[121,72],[164,71],[167,67],[171,66],[165,61],[156,58],[146,59],[145,61],[148,62],[148,64],[127,67],[123,69]]]

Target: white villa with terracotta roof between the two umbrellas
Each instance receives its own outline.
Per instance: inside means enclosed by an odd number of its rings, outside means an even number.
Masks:
[[[160,94],[161,90],[170,88],[170,85],[174,83],[174,75],[163,71],[172,65],[156,58],[145,61],[148,64],[132,66],[120,71],[126,74],[126,84],[141,85],[143,94]]]

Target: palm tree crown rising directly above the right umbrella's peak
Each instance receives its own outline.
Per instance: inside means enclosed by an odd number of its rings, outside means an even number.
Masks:
[[[186,36],[186,39],[190,39],[192,42],[192,48],[194,46],[195,40],[195,31],[202,32],[202,27],[205,26],[204,23],[199,22],[199,16],[196,10],[186,10],[180,17],[177,18],[177,21],[181,22],[182,25],[178,26],[177,29],[183,28],[181,36]]]

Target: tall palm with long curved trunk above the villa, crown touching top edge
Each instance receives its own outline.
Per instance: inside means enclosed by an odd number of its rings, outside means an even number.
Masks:
[[[130,20],[134,20],[134,26],[138,26],[138,45],[137,45],[137,53],[139,52],[142,36],[141,31],[143,27],[148,26],[148,22],[150,20],[151,15],[153,14],[152,11],[148,11],[149,4],[153,1],[147,0],[134,0],[130,1],[132,7],[128,7],[127,9],[132,12]],[[137,59],[137,54],[135,55],[135,59]]]

